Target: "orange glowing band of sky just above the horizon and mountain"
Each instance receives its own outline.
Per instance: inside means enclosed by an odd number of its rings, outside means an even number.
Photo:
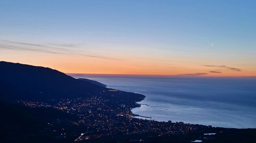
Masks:
[[[19,56],[12,55],[22,55]],[[120,58],[115,56],[115,58]],[[81,74],[121,74],[121,75],[148,75],[148,76],[176,76],[179,74],[200,74],[198,76],[208,77],[240,77],[256,76],[256,67],[252,65],[232,65],[230,67],[241,69],[233,71],[219,67],[206,67],[209,65],[222,65],[221,62],[204,63],[201,60],[176,60],[172,63],[155,60],[152,58],[136,59],[131,57],[122,57],[125,60],[108,60],[95,57],[84,57],[79,55],[65,55],[52,53],[35,53],[22,51],[5,51],[0,60],[6,62],[23,63],[28,65],[49,67],[64,73]],[[216,71],[219,73],[212,73]],[[187,75],[189,76],[189,75]]]

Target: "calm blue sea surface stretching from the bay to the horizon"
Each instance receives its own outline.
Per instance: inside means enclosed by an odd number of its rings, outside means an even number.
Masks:
[[[256,79],[72,75],[146,96],[132,109],[157,121],[256,128]]]

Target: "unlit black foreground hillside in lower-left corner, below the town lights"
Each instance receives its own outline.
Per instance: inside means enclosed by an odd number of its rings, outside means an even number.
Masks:
[[[71,116],[52,108],[30,108],[17,104],[0,101],[0,143],[63,143],[42,130],[47,128],[52,121],[73,121],[77,116]],[[84,126],[60,123],[65,129],[74,129],[80,132]],[[72,139],[65,139],[72,142]]]

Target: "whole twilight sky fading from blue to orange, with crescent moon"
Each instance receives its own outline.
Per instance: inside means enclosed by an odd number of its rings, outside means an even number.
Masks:
[[[65,73],[256,76],[256,1],[0,0],[0,61]]]

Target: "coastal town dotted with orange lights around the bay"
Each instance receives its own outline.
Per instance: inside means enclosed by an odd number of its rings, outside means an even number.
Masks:
[[[110,92],[118,92],[110,89]],[[75,136],[74,141],[97,139],[102,136],[133,135],[133,134],[154,134],[163,136],[166,134],[187,134],[189,132],[206,128],[204,125],[192,125],[189,123],[171,121],[154,121],[151,119],[139,119],[131,112],[132,107],[124,103],[113,103],[101,96],[90,98],[74,98],[49,101],[17,101],[20,104],[32,108],[54,108],[62,110],[79,118],[75,121],[57,120],[48,123],[44,132],[54,132],[55,138],[66,138]],[[137,104],[137,103],[136,103]],[[84,127],[83,132],[68,133],[62,127],[56,125],[65,122],[65,125],[72,124]],[[210,127],[210,126],[209,126]],[[82,131],[81,130],[81,131]]]

